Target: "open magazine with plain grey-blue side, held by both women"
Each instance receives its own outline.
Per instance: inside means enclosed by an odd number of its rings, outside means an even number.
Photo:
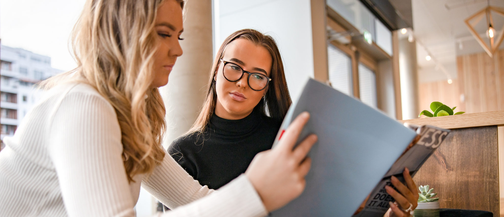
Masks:
[[[385,191],[392,175],[404,182],[450,132],[434,126],[408,127],[353,97],[309,79],[289,108],[273,143],[301,112],[318,142],[308,156],[311,169],[303,193],[271,216],[383,216],[393,198]],[[363,202],[364,201],[364,202]]]

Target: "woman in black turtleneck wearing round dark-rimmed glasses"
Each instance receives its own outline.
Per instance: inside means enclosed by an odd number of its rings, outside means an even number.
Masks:
[[[271,149],[290,104],[274,39],[253,29],[236,31],[216,54],[200,115],[168,153],[200,184],[219,189]],[[386,216],[408,216],[416,207],[416,185],[407,171],[404,177],[407,187],[393,180],[401,193],[387,189],[404,208],[391,204]]]

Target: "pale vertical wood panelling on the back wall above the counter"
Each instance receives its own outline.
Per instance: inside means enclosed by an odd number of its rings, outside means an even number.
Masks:
[[[493,58],[484,52],[459,56],[453,84],[442,80],[420,83],[419,88],[420,110],[428,109],[433,101],[467,113],[504,110],[504,50]]]

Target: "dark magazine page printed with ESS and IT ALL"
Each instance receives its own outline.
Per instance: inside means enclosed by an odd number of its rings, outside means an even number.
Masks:
[[[371,191],[365,203],[361,204],[357,213],[353,215],[354,217],[383,216],[389,209],[389,201],[395,201],[385,190],[386,185],[394,187],[390,181],[391,177],[395,176],[399,181],[405,183],[403,177],[405,167],[408,168],[410,175],[413,177],[450,132],[448,129],[429,125],[420,126],[417,131],[419,131],[417,138],[408,146],[404,154],[392,165],[380,183]]]

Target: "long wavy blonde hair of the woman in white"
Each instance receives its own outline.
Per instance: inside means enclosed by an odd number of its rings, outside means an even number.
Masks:
[[[74,26],[72,46],[77,67],[40,84],[62,82],[94,87],[115,109],[121,128],[128,180],[151,173],[164,158],[166,127],[159,90],[151,88],[157,34],[156,13],[164,1],[88,0]]]

